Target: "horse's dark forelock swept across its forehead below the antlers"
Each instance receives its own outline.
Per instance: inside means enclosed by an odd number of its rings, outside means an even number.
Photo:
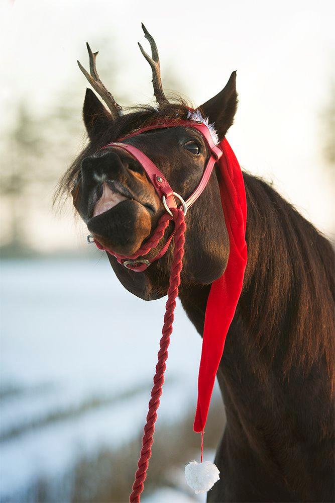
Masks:
[[[61,200],[63,196],[70,195],[80,171],[81,161],[88,155],[92,155],[103,145],[116,141],[131,131],[152,124],[156,120],[174,119],[176,117],[186,119],[190,106],[181,97],[175,97],[175,101],[175,103],[169,103],[161,109],[150,105],[130,107],[128,108],[129,113],[118,117],[113,123],[110,122],[110,128],[101,128],[99,134],[95,136],[94,140],[89,141],[58,182],[54,194],[54,203]]]

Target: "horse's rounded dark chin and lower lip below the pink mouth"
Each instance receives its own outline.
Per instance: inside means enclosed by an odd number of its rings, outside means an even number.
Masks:
[[[104,248],[130,257],[150,235],[152,217],[149,210],[134,199],[123,198],[116,204],[114,202],[96,205],[94,213],[98,214],[88,220],[87,227]],[[111,208],[99,213],[108,204],[112,204]]]

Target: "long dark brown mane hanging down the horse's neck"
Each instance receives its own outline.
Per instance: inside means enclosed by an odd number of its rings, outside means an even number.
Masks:
[[[292,366],[308,373],[325,360],[333,383],[333,247],[270,185],[244,177],[249,257],[240,306],[251,315],[250,344],[271,361],[281,354],[286,377]]]

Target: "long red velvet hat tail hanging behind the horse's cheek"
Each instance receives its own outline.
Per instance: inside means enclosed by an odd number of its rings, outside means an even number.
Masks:
[[[198,376],[198,401],[193,425],[197,433],[203,431],[206,424],[216,372],[241,295],[247,264],[247,202],[243,175],[226,139],[220,143],[220,147],[224,154],[216,165],[220,172],[219,187],[229,234],[230,253],[227,268],[224,274],[212,283],[207,300]]]

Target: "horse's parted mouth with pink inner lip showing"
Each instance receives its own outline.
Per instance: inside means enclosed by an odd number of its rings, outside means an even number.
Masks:
[[[99,192],[95,195],[95,199],[96,198],[97,200],[94,203],[94,206],[92,205],[93,208],[90,212],[91,218],[97,217],[102,213],[109,211],[111,208],[114,208],[126,199],[137,201],[150,212],[155,211],[151,204],[141,201],[132,194],[127,187],[116,180],[107,180],[103,182],[102,186],[99,188]]]

